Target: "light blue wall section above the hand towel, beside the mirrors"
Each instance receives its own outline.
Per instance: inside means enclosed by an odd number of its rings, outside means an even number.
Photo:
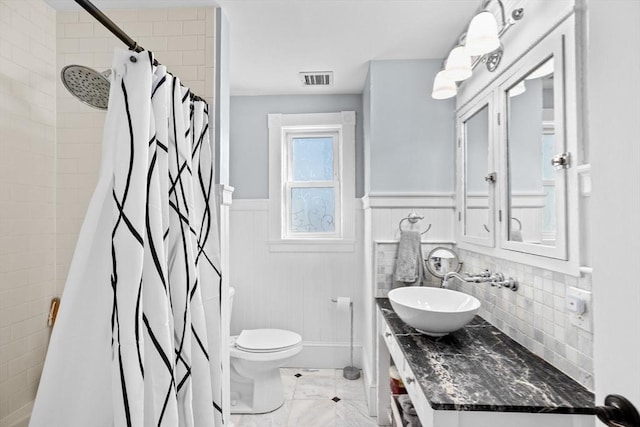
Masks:
[[[441,60],[372,61],[366,191],[453,192],[454,101],[434,100]]]

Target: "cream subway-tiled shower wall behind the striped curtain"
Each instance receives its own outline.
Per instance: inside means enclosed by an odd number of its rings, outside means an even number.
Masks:
[[[215,8],[105,12],[213,105]],[[49,303],[62,292],[98,177],[105,113],[75,100],[59,72],[105,70],[115,47],[123,45],[80,8],[0,0],[0,427],[28,420]]]

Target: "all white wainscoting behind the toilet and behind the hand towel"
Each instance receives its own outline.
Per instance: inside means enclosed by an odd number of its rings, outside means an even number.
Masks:
[[[291,366],[342,368],[349,364],[349,313],[338,311],[331,299],[351,297],[354,364],[363,369],[368,401],[375,411],[374,242],[397,240],[400,220],[414,211],[425,217],[415,224],[416,229],[431,224],[423,242],[453,244],[454,209],[452,193],[370,194],[362,205],[356,203],[353,212],[353,251],[278,252],[270,250],[269,201],[234,200],[228,273],[236,288],[231,333],[249,328],[289,329],[300,333],[305,344]]]

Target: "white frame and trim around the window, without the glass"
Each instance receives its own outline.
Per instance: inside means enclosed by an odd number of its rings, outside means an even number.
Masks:
[[[355,120],[354,111],[312,114],[268,114],[269,126],[269,247],[275,252],[352,252],[355,226]],[[287,233],[287,179],[291,167],[289,136],[338,135],[334,176],[340,177],[333,233]],[[316,181],[317,182],[317,181]],[[303,187],[310,187],[303,185]]]

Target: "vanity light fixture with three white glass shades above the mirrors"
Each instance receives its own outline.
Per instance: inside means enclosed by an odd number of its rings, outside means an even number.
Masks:
[[[492,1],[500,6],[502,27],[498,28],[498,21],[493,12],[487,10]],[[518,8],[511,12],[506,19],[502,0],[485,0],[480,11],[469,23],[467,31],[459,38],[459,43],[451,50],[442,71],[436,74],[431,96],[434,99],[447,99],[456,96],[458,92],[456,82],[471,77],[472,70],[480,63],[486,63],[487,69],[495,71],[502,59],[502,45],[500,37],[524,16],[524,9]],[[467,62],[469,66],[467,66]]]

